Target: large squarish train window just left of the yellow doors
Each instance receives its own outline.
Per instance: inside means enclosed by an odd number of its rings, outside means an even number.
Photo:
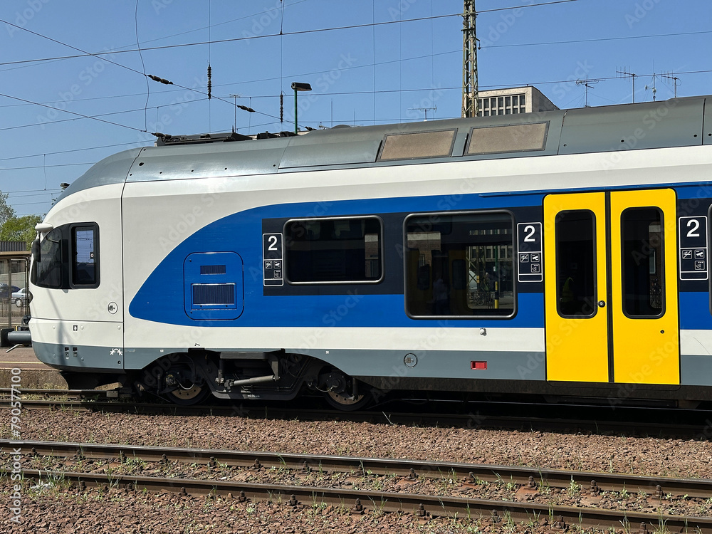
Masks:
[[[511,214],[412,215],[405,232],[405,299],[411,317],[514,315]]]

